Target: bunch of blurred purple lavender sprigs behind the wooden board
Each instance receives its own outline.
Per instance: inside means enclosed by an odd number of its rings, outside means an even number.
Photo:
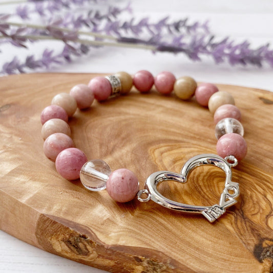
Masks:
[[[186,18],[172,22],[169,17],[164,17],[156,23],[151,23],[149,18],[143,18],[137,23],[134,18],[121,22],[118,15],[130,10],[130,6],[123,9],[110,6],[106,14],[94,10],[83,14],[67,12],[64,18],[56,18],[55,11],[60,10],[61,6],[83,5],[88,0],[34,2],[35,7],[41,3],[48,5],[47,11],[53,12],[50,23],[47,26],[9,23],[7,20],[10,16],[0,15],[0,33],[2,33],[0,38],[11,41],[12,45],[19,47],[27,47],[28,43],[34,40],[54,39],[64,43],[64,50],[54,54],[49,49],[40,59],[30,55],[23,62],[15,57],[3,66],[2,73],[48,69],[51,64],[62,64],[65,60],[73,60],[73,56],[86,54],[92,46],[133,47],[153,52],[183,53],[190,59],[199,61],[202,56],[207,55],[217,64],[228,61],[230,65],[261,67],[264,63],[268,63],[273,67],[273,50],[268,44],[252,49],[247,41],[240,44],[236,44],[230,38],[219,41],[211,34],[207,22],[189,24]],[[17,8],[17,13],[23,20],[30,18],[32,11],[28,5]],[[46,13],[40,14],[40,16],[44,15]],[[79,30],[82,27],[88,28],[91,32]],[[86,36],[89,39],[85,38]]]

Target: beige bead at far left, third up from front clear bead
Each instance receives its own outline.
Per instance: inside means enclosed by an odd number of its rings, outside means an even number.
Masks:
[[[63,133],[70,136],[71,130],[66,121],[59,118],[52,118],[44,123],[41,128],[41,136],[46,139],[54,133]]]

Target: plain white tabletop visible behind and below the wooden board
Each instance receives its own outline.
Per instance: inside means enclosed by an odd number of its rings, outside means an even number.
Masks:
[[[3,2],[3,0],[2,0]],[[120,5],[124,2],[119,1]],[[4,8],[0,6],[0,13]],[[248,39],[253,46],[264,45],[273,41],[273,2],[270,0],[157,0],[133,1],[133,16],[142,18],[149,16],[152,20],[170,15],[170,18],[189,17],[191,22],[209,19],[211,31],[219,37],[230,36],[240,42]],[[129,15],[128,15],[129,16]],[[57,47],[56,47],[57,48]],[[2,48],[0,65],[10,61],[14,51]],[[33,54],[43,50],[43,45],[32,47]],[[16,50],[24,58],[26,50]],[[145,50],[99,48],[93,49],[88,56],[83,56],[74,63],[51,69],[53,72],[106,72],[150,70],[154,75],[167,70],[176,76],[190,75],[198,81],[228,83],[267,89],[273,91],[273,69],[265,66],[231,67],[227,63],[216,65],[213,60],[203,58],[201,62],[193,62],[182,54],[153,54]],[[104,272],[64,258],[57,257],[21,242],[4,232],[0,232],[0,272]]]

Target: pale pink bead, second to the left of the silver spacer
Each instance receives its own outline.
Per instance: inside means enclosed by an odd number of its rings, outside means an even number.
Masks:
[[[87,85],[76,85],[69,94],[76,100],[79,109],[89,108],[94,101],[94,94]]]

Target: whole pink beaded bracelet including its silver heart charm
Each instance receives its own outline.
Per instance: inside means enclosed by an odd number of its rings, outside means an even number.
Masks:
[[[180,174],[160,171],[153,173],[145,181],[144,189],[139,190],[136,175],[128,169],[118,169],[111,172],[110,166],[102,160],[88,161],[86,155],[74,148],[70,138],[71,130],[68,125],[69,117],[76,109],[89,108],[94,101],[103,101],[111,96],[127,94],[133,85],[140,93],[151,90],[153,85],[161,94],[172,91],[182,100],[195,96],[196,101],[203,107],[208,107],[214,114],[217,138],[215,154],[202,154],[189,159]],[[140,202],[153,200],[170,209],[187,213],[202,214],[208,221],[219,218],[225,209],[235,204],[239,196],[239,184],[232,181],[232,167],[242,160],[247,152],[243,138],[244,130],[240,123],[240,110],[234,105],[232,95],[218,91],[211,83],[197,86],[191,77],[178,79],[170,72],[162,72],[155,78],[145,70],[137,72],[133,77],[126,72],[118,72],[106,77],[95,77],[87,85],[73,87],[70,94],[60,93],[52,99],[51,105],[41,113],[43,124],[41,134],[45,139],[44,153],[55,161],[57,172],[68,180],[80,178],[81,183],[90,191],[107,192],[116,202],[129,202],[136,196]],[[195,167],[200,165],[215,165],[225,172],[225,186],[218,204],[213,206],[195,206],[172,201],[161,195],[157,187],[167,180],[185,183],[187,176]]]

